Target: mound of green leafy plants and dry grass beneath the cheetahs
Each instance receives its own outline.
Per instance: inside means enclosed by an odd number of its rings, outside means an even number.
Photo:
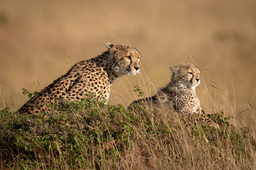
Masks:
[[[3,169],[253,169],[247,127],[211,115],[221,130],[150,105],[123,108],[84,99],[37,115],[0,111]]]

